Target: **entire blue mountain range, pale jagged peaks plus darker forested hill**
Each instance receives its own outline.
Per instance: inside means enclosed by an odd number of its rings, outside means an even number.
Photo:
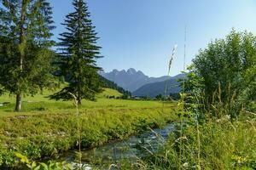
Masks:
[[[109,81],[115,82],[119,87],[129,90],[134,96],[148,96],[152,98],[158,94],[164,94],[165,87],[168,87],[166,94],[179,92],[180,88],[178,87],[177,79],[184,76],[180,74],[176,77],[148,77],[144,75],[143,71],[136,71],[133,68],[127,71],[118,71],[116,69],[110,72],[100,71],[99,74]]]

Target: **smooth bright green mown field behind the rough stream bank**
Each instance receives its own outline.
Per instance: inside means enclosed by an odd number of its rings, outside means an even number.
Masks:
[[[44,94],[38,94],[34,97],[25,96],[22,102],[22,111],[14,112],[15,96],[5,94],[0,97],[0,104],[10,102],[9,105],[0,106],[0,116],[15,115],[34,115],[34,114],[65,114],[75,111],[73,101],[55,101],[48,98],[53,91],[45,90]],[[97,94],[96,101],[83,100],[79,106],[81,111],[95,111],[108,109],[142,109],[142,108],[159,108],[162,103],[158,101],[136,101],[123,99],[107,99],[106,96],[119,97],[119,92],[105,88],[102,94]]]

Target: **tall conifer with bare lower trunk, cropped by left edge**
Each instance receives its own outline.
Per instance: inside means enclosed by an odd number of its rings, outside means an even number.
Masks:
[[[53,78],[52,8],[46,0],[0,2],[0,84],[16,95],[15,111],[20,111],[22,96],[38,93]]]

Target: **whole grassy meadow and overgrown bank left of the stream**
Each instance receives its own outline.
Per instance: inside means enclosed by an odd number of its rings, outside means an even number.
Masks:
[[[18,113],[14,112],[14,98],[0,98],[10,102],[0,108],[0,167],[17,166],[17,152],[38,160],[78,148],[78,116],[73,101],[49,100],[46,97],[50,93],[24,98],[23,110]],[[159,101],[107,99],[110,95],[120,94],[107,88],[96,101],[83,100],[79,106],[83,149],[175,120],[175,103],[163,107]]]

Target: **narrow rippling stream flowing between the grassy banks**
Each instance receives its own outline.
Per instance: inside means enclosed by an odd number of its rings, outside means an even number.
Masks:
[[[118,164],[120,161],[135,162],[137,159],[147,156],[150,152],[156,152],[174,130],[174,124],[168,124],[164,128],[148,129],[139,135],[131,136],[122,141],[104,144],[91,150],[82,150],[82,164],[84,169],[94,167],[108,169],[111,164]],[[60,156],[57,161],[67,161],[75,166],[77,162],[75,150],[68,151]],[[114,169],[114,168],[113,168]]]

